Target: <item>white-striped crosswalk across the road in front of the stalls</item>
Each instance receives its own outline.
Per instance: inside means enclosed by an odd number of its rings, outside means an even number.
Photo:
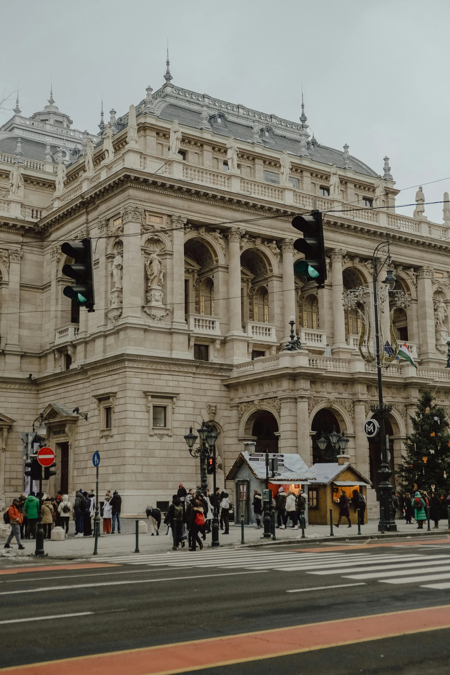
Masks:
[[[92,558],[92,560],[97,560]],[[250,549],[209,550],[202,553],[143,553],[103,557],[118,564],[167,566],[169,568],[223,568],[304,572],[316,576],[338,576],[355,583],[416,584],[428,589],[450,589],[450,555],[438,553],[371,553],[368,551],[254,551]],[[424,584],[426,582],[426,584]]]

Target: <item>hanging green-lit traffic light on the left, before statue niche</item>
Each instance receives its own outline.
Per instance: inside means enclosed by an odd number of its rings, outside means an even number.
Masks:
[[[64,265],[63,274],[75,279],[75,286],[65,286],[63,294],[75,300],[80,307],[94,312],[94,271],[92,269],[92,244],[90,239],[80,242],[64,242],[61,251],[74,259],[72,265]]]

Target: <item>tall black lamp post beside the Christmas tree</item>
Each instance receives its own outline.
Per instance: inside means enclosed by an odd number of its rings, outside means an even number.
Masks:
[[[387,447],[386,447],[386,436],[385,436],[385,406],[383,405],[383,382],[381,380],[381,358],[380,358],[380,327],[378,325],[378,300],[376,297],[376,279],[378,274],[383,269],[385,263],[388,264],[388,270],[386,273],[386,278],[383,279],[383,284],[386,284],[389,290],[393,291],[395,288],[395,279],[394,273],[391,267],[391,252],[389,241],[390,234],[386,234],[386,240],[381,242],[376,246],[373,257],[372,257],[372,282],[373,282],[373,293],[374,293],[374,321],[375,321],[375,345],[376,345],[376,372],[378,377],[378,412],[380,416],[380,443],[381,443],[381,466],[378,470],[378,476],[381,478],[380,483],[378,483],[378,501],[380,502],[380,522],[378,523],[378,531],[384,530],[384,526],[387,526],[387,529],[390,531],[397,531],[397,524],[393,519],[392,511],[392,485],[389,482],[391,477],[391,470],[389,468],[387,460]],[[377,254],[378,251],[387,246],[387,254],[383,263],[379,265]],[[385,254],[385,251],[383,254]],[[383,520],[383,523],[381,522]],[[384,525],[384,526],[383,526]]]

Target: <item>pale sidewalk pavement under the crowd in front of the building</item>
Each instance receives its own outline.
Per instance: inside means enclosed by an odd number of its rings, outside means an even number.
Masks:
[[[98,559],[101,559],[105,556],[124,556],[131,555],[134,553],[136,547],[136,535],[130,533],[130,527],[134,525],[134,520],[129,519],[129,523],[125,523],[125,518],[123,518],[122,534],[118,535],[103,535],[99,538],[98,543]],[[144,519],[145,520],[145,519]],[[397,535],[400,537],[426,537],[426,536],[436,536],[436,535],[450,535],[450,530],[448,529],[448,524],[446,520],[441,521],[441,526],[439,529],[433,529],[431,525],[431,531],[427,532],[426,523],[424,524],[423,530],[418,530],[417,525],[412,523],[407,525],[405,520],[397,520]],[[151,536],[148,534],[139,535],[139,551],[140,553],[163,553],[167,551],[168,553],[173,553],[176,555],[175,551],[172,551],[172,538],[169,535],[166,535],[167,526],[162,525],[159,536]],[[302,531],[298,529],[291,529],[288,527],[286,530],[276,529],[275,535],[277,541],[273,542],[272,539],[263,539],[263,529],[256,529],[254,526],[244,527],[244,539],[246,545],[277,545],[277,543],[342,543],[343,541],[350,540],[352,543],[359,543],[360,541],[367,541],[367,538],[370,539],[391,539],[395,537],[395,533],[386,533],[382,535],[378,533],[378,520],[369,520],[368,524],[361,526],[362,536],[358,537],[358,526],[351,526],[349,528],[347,525],[339,526],[337,529],[336,526],[333,527],[334,537],[330,536],[330,528],[326,525],[308,525],[305,529],[306,539],[302,540]],[[0,540],[0,552],[3,557],[3,560],[7,557],[17,558],[28,558],[34,554],[35,541],[26,540],[24,541],[25,550],[18,551],[18,547],[13,540],[13,547],[11,549],[3,549],[3,545]],[[224,535],[223,531],[219,531],[219,541],[221,546],[241,546],[241,528],[240,526],[230,526],[229,535]],[[206,541],[204,542],[205,550],[207,547],[210,547],[211,535],[206,535]],[[69,535],[65,541],[50,541],[45,539],[44,542],[45,553],[49,558],[61,558],[61,559],[82,559],[82,558],[91,558],[94,551],[94,538],[93,537],[73,537]],[[136,559],[138,559],[139,553],[136,553]],[[40,560],[43,560],[40,558]]]

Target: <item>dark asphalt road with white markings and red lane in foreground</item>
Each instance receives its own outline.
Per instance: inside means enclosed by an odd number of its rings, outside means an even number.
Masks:
[[[295,546],[277,547],[276,551],[264,553],[259,549],[204,549],[146,558],[99,558],[92,564],[108,566],[89,568],[82,568],[76,562],[55,565],[40,560],[33,562],[32,571],[18,574],[9,573],[11,568],[18,568],[17,563],[2,562],[0,667],[291,626],[302,626],[300,635],[304,636],[309,624],[326,622],[312,629],[318,630],[320,639],[325,641],[324,645],[316,645],[314,651],[283,655],[283,647],[267,650],[264,647],[266,634],[259,643],[256,641],[256,652],[251,649],[250,653],[245,652],[250,644],[250,639],[245,637],[242,645],[229,643],[225,657],[217,657],[217,641],[204,643],[200,646],[206,655],[203,672],[265,675],[277,668],[296,675],[322,672],[327,675],[391,672],[422,675],[426,669],[434,675],[447,675],[450,673],[450,628],[439,626],[450,626],[450,620],[445,617],[441,620],[439,613],[447,612],[450,618],[450,607],[437,608],[450,605],[450,540],[436,545],[404,545],[401,541],[397,544],[365,547],[364,551],[325,545],[302,552]],[[52,569],[43,570],[45,565]],[[20,568],[24,566],[20,563]],[[424,587],[435,583],[449,588]],[[407,610],[421,608],[432,610],[425,613],[426,616],[416,612],[411,616],[401,614],[393,619],[388,616],[372,620],[376,614],[407,613]],[[83,612],[92,614],[61,616]],[[29,620],[35,617],[40,618]],[[346,623],[349,618],[358,620]],[[434,630],[428,630],[427,622],[433,618],[436,618]],[[17,619],[27,620],[10,622]],[[372,626],[376,621],[381,622],[381,630],[378,624],[378,627]],[[412,633],[396,634],[404,630],[412,630]],[[381,635],[394,637],[379,639]],[[283,631],[275,634],[281,641],[285,639],[283,636]],[[378,639],[373,639],[374,636]],[[305,649],[314,643],[313,638],[311,643],[308,639],[305,637]],[[333,646],[333,643],[358,639],[364,641]],[[291,645],[287,645],[285,651],[289,649]],[[175,651],[177,658],[181,658],[181,668],[190,664],[186,647],[177,647]],[[275,656],[268,657],[271,653]],[[224,659],[233,661],[244,657],[248,660],[208,667],[208,664],[223,663]],[[77,672],[89,670],[89,664],[76,663]],[[61,668],[67,672],[63,664],[59,664],[57,672],[61,672]],[[198,672],[199,668],[185,672]],[[109,670],[110,666],[105,663],[99,672]],[[46,667],[45,672],[51,675],[53,671]],[[125,670],[120,672],[137,675],[146,669],[140,670],[128,657]]]

